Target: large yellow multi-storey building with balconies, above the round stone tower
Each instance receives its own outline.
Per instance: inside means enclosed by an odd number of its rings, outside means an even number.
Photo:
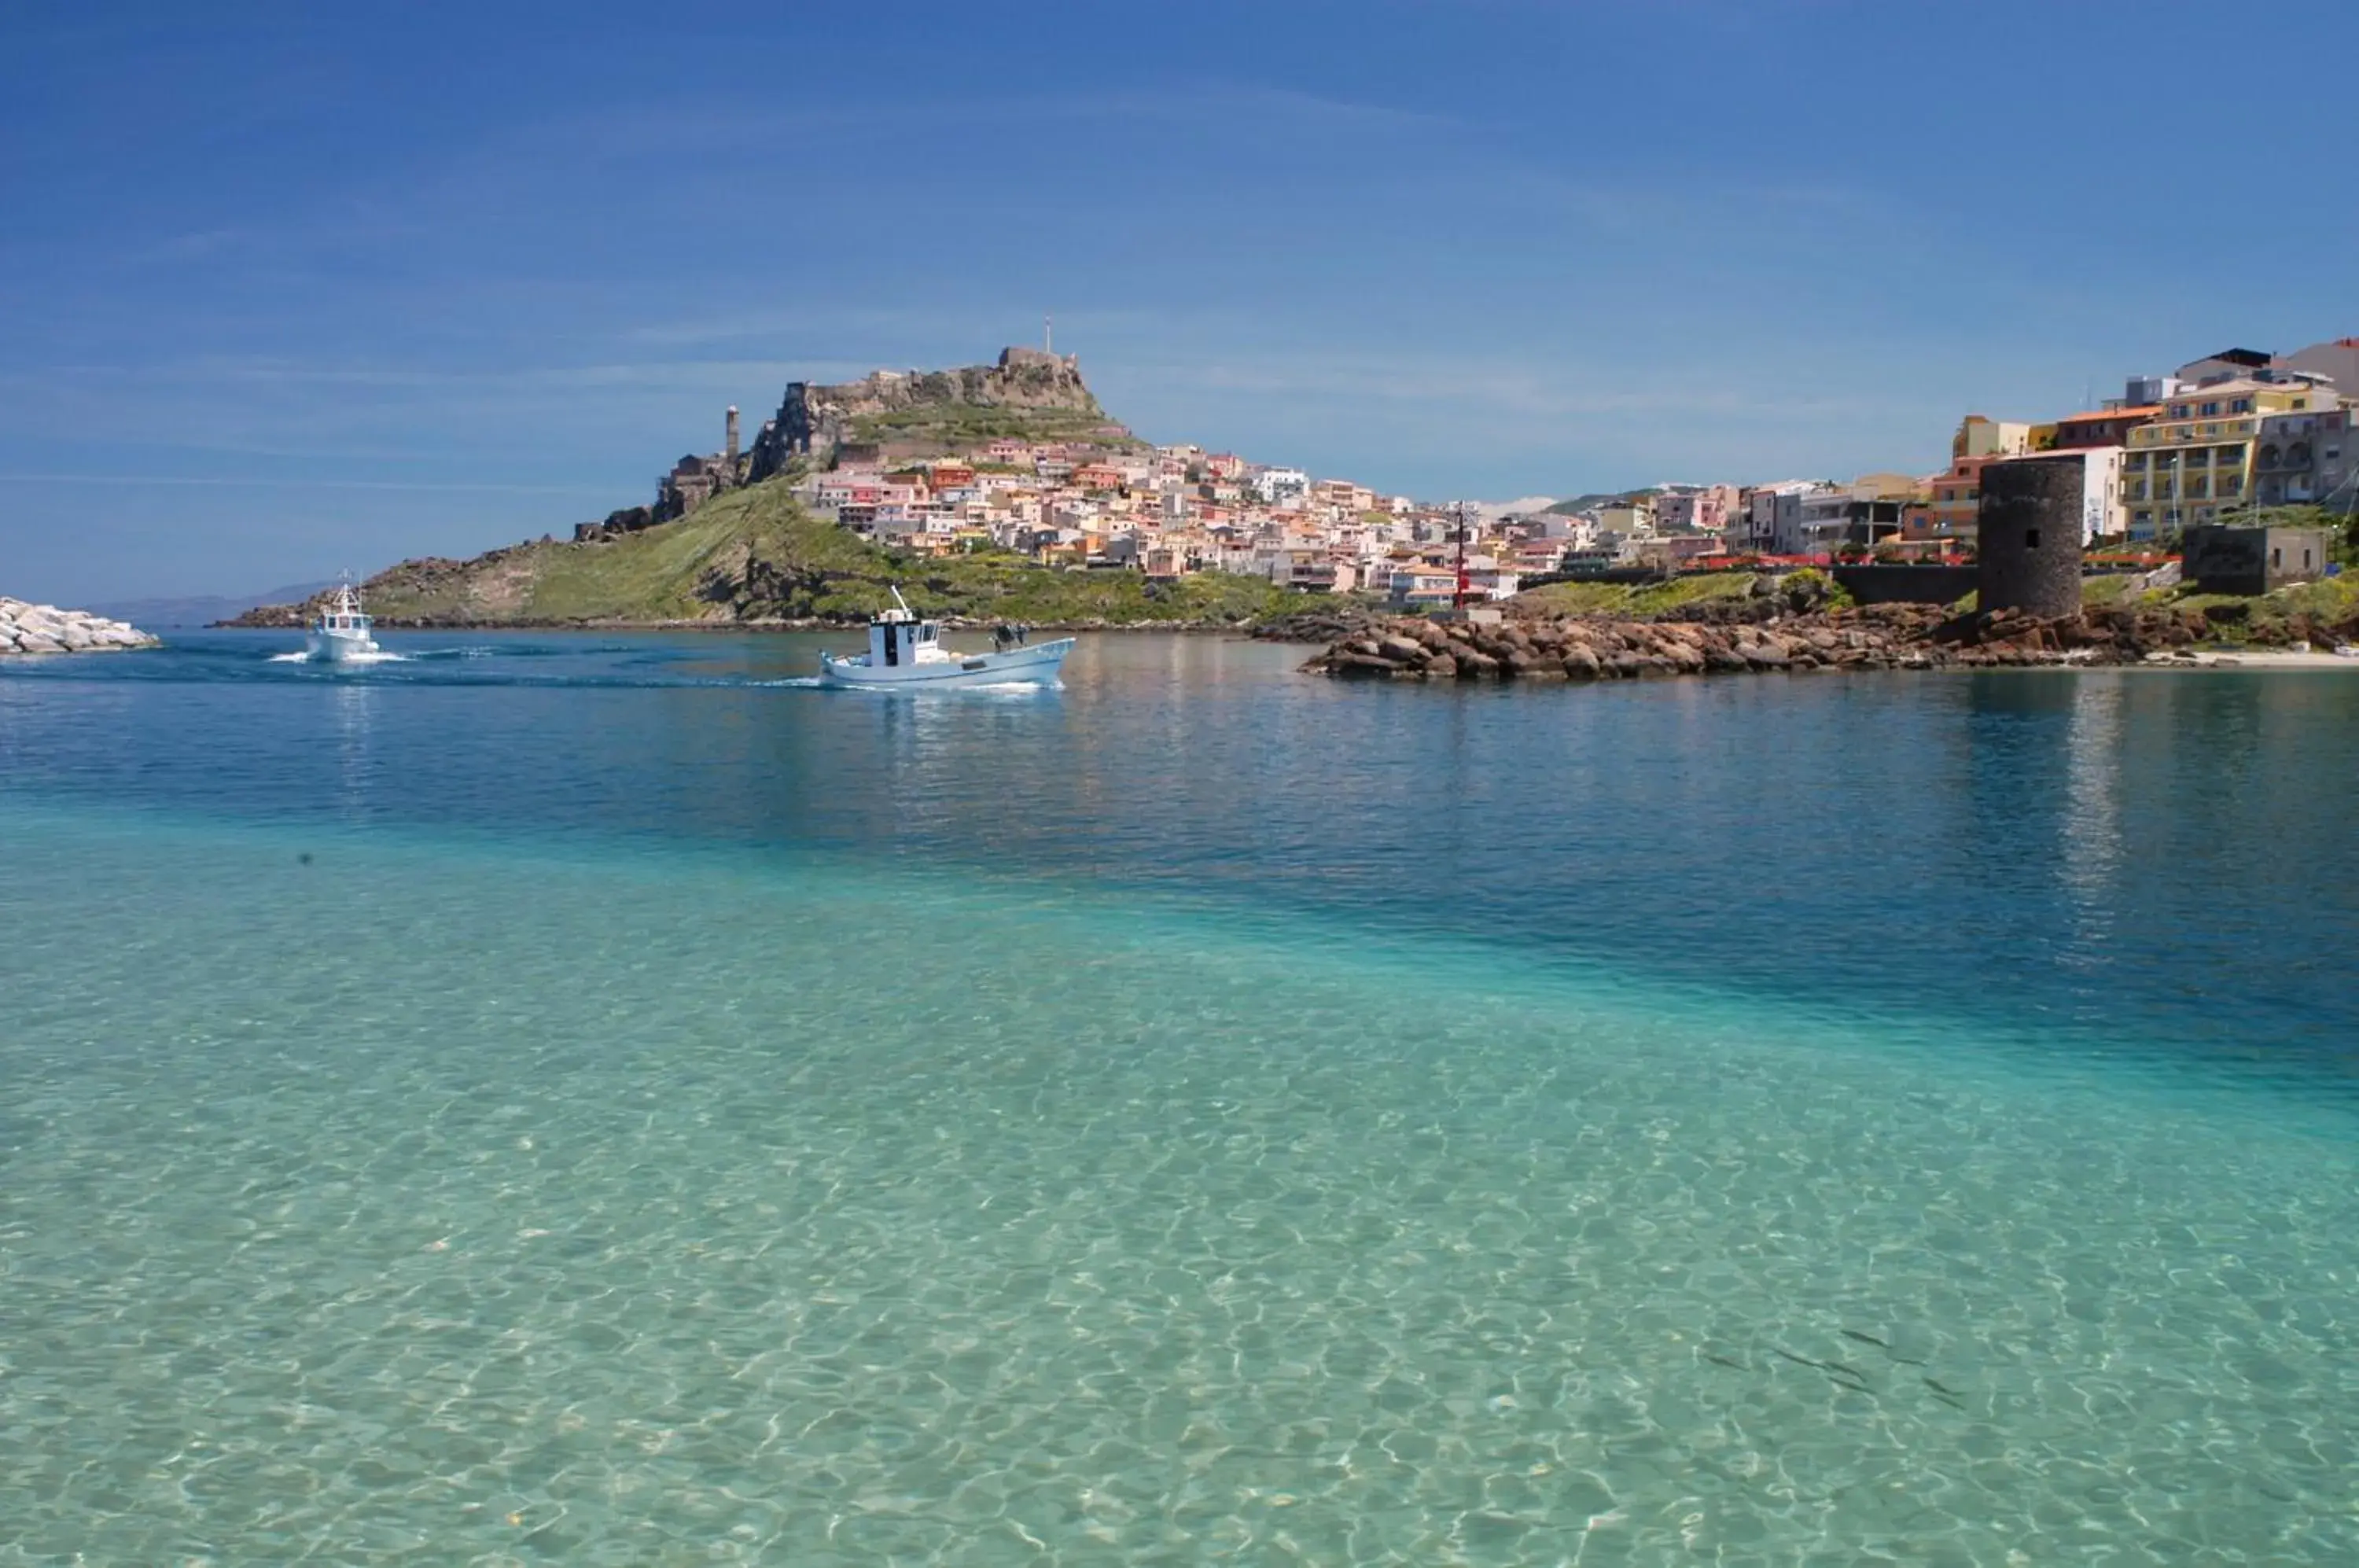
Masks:
[[[2309,382],[2239,377],[2180,391],[2158,420],[2130,431],[2121,455],[2130,538],[2151,540],[2253,505],[2253,443],[2262,415],[2335,406],[2333,391]]]

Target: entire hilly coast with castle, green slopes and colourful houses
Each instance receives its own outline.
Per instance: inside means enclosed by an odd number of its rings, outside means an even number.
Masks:
[[[1927,474],[1474,505],[1151,446],[1073,356],[1005,349],[986,365],[793,382],[750,441],[729,408],[722,448],[675,462],[646,505],[571,540],[403,561],[366,592],[387,625],[856,620],[889,587],[951,618],[1066,625],[1241,625],[1345,594],[1427,611],[1595,578],[1960,566],[1993,465],[2026,460],[2078,467],[2078,545],[2154,561],[2192,531],[2284,521],[2281,507],[2309,523],[2359,512],[2354,391],[2359,340],[2227,349],[2055,420],[1970,413]],[[2295,575],[2328,571],[2321,545],[2300,542]],[[1913,592],[1953,589],[1934,573]],[[264,606],[241,625],[300,618]]]

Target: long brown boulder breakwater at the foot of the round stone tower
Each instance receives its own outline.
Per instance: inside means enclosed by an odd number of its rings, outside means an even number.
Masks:
[[[1656,674],[2135,665],[2203,641],[2199,611],[2022,611],[1951,615],[1920,604],[1769,620],[1505,615],[1392,618],[1338,639],[1305,670],[1411,681],[1609,681]]]

